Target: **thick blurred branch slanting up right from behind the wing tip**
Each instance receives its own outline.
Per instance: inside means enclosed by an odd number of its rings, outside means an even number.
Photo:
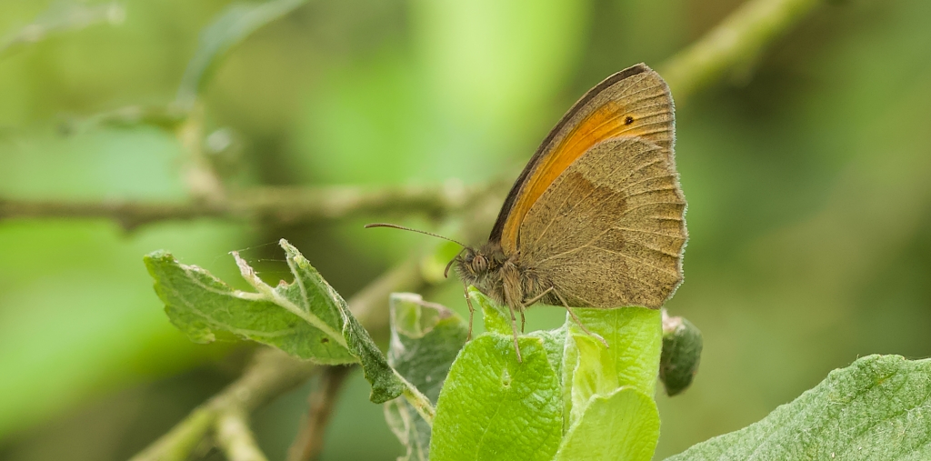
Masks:
[[[749,0],[660,67],[677,102],[735,71],[748,71],[766,47],[824,0]]]

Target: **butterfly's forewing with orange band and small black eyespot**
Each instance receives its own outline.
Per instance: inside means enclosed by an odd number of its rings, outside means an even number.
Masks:
[[[673,164],[673,106],[668,86],[644,64],[614,74],[576,102],[531,158],[511,189],[492,241],[517,251],[524,217],[560,175],[599,142],[636,136],[653,142]]]

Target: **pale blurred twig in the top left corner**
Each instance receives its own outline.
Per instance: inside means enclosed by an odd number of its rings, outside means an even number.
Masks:
[[[126,10],[116,2],[108,5],[55,2],[33,23],[0,39],[0,59],[21,47],[40,42],[49,35],[84,29],[99,23],[118,24],[125,17]]]

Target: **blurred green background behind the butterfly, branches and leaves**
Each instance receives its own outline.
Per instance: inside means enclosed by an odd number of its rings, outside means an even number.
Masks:
[[[513,177],[587,88],[658,66],[740,3],[311,0],[215,68],[204,149],[232,187]],[[228,5],[0,3],[0,199],[184,199],[174,132],[94,115],[174,100],[198,34]],[[754,72],[680,104],[691,239],[668,308],[702,330],[705,351],[695,385],[658,398],[657,459],[762,418],[857,357],[931,355],[929,18],[926,0],[831,2]],[[245,249],[274,279],[286,237],[348,297],[423,243],[363,222],[0,222],[0,458],[126,459],[236,377],[248,346],[176,332],[144,253],[236,280],[227,251]],[[460,290],[434,300],[464,311]],[[528,318],[550,327],[562,312]],[[311,388],[255,414],[271,459]],[[367,394],[354,376],[322,459],[400,453]]]

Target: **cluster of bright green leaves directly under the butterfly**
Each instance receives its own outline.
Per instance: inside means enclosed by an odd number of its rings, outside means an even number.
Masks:
[[[521,336],[519,363],[510,313],[474,288],[469,296],[489,332],[452,365],[434,459],[650,459],[659,438],[659,311],[573,309],[610,347],[567,315],[560,329]]]

